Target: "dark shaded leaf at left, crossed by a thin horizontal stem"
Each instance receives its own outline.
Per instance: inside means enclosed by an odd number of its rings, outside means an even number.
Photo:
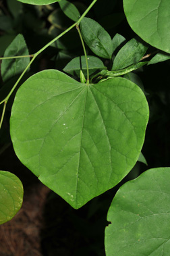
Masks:
[[[4,53],[4,57],[28,55],[28,48],[22,34],[18,34],[12,43],[7,47]],[[3,81],[9,80],[13,76],[16,76],[24,71],[30,57],[18,58],[18,59],[3,59],[1,63],[1,75]]]

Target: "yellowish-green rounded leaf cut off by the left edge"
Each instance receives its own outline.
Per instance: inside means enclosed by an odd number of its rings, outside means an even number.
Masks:
[[[20,179],[10,172],[0,171],[0,224],[9,220],[22,206],[23,186]]]

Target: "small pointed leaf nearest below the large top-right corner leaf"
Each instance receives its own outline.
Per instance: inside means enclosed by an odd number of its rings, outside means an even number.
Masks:
[[[117,53],[113,61],[112,70],[121,70],[132,64],[138,63],[146,53],[148,47],[140,43],[137,39],[132,39],[126,43]]]

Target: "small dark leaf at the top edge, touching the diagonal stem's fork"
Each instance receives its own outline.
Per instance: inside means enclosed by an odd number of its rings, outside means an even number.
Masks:
[[[74,22],[76,22],[80,18],[80,13],[73,3],[62,0],[61,2],[59,2],[59,6],[62,9],[63,13],[71,20],[74,20]]]

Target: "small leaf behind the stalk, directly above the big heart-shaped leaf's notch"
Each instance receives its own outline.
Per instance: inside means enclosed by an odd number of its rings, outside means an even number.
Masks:
[[[80,77],[80,70],[84,73],[84,76],[87,76],[87,70],[86,70],[86,58],[84,56],[76,57],[69,61],[65,68],[63,69],[64,72],[67,72],[68,74],[72,74]],[[94,73],[96,70],[103,70],[106,68],[101,61],[101,59],[98,59],[98,57],[94,56],[88,56],[88,70],[89,74]]]

